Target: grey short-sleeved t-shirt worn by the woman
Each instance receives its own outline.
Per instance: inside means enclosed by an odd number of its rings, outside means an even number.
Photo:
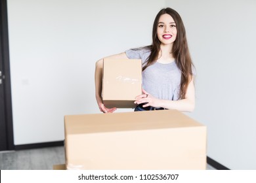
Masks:
[[[150,56],[150,50],[146,48],[126,50],[125,53],[129,59],[142,59],[142,65]],[[156,61],[142,72],[143,89],[158,99],[178,100],[180,84],[181,70],[175,61],[166,64]]]

